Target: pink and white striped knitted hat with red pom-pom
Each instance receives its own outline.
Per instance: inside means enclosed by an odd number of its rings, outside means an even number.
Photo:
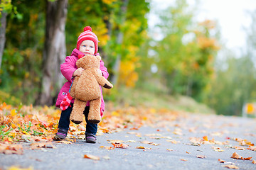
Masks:
[[[97,53],[98,50],[98,39],[97,35],[95,33],[92,33],[92,28],[90,26],[87,26],[84,28],[84,32],[82,32],[79,37],[78,37],[78,42],[77,42],[77,49],[79,50],[79,47],[84,40],[92,40],[95,42],[95,54]]]

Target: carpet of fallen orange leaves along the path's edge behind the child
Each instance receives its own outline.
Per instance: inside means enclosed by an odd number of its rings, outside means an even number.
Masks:
[[[110,109],[105,112],[105,116],[99,124],[97,135],[114,132],[126,128],[138,129],[145,123],[154,123],[161,120],[162,117],[156,118],[154,108],[114,108],[111,104]],[[166,120],[176,119],[176,112],[160,110],[160,113],[171,115]],[[139,113],[139,114],[138,114]],[[60,109],[31,106],[14,107],[1,103],[0,105],[0,140],[8,143],[19,141],[33,142],[50,142],[53,135],[57,132],[58,120],[60,118]],[[75,137],[85,135],[85,121],[80,125],[70,124],[70,139],[74,142]],[[118,145],[114,145],[118,147]],[[119,147],[124,147],[120,145]]]

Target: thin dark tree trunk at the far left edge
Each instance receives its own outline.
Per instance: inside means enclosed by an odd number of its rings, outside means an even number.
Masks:
[[[1,1],[0,1],[1,3]],[[1,26],[0,26],[0,69],[1,69],[1,61],[2,61],[2,57],[3,57],[3,54],[4,54],[4,44],[6,42],[6,36],[5,36],[5,33],[6,33],[6,16],[7,16],[7,13],[3,12],[3,11],[0,11],[1,12]]]

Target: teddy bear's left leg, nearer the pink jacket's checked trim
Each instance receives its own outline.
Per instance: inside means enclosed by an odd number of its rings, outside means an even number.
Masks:
[[[82,123],[84,118],[83,111],[85,110],[86,102],[80,101],[78,98],[75,98],[73,110],[70,115],[70,120],[75,124]]]

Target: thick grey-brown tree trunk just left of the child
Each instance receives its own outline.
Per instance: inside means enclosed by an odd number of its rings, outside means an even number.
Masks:
[[[47,1],[40,105],[52,106],[55,102],[54,98],[63,85],[60,64],[64,62],[66,56],[65,21],[67,13],[68,0]]]

